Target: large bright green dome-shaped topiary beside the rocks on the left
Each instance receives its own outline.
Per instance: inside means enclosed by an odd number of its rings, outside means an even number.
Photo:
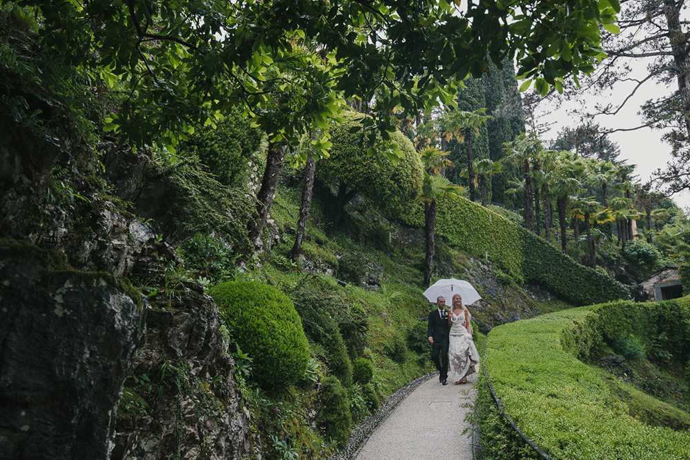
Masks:
[[[309,346],[293,303],[257,281],[229,281],[209,290],[239,348],[254,357],[252,377],[263,388],[296,383],[304,376]]]

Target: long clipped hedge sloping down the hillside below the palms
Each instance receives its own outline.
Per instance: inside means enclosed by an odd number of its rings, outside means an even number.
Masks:
[[[417,206],[412,225],[424,227]],[[517,283],[536,283],[575,305],[628,299],[622,283],[584,267],[546,240],[477,203],[451,196],[439,201],[436,234],[477,257],[489,257]]]

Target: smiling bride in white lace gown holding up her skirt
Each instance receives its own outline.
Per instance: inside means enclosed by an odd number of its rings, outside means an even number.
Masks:
[[[462,305],[462,297],[455,294],[453,310],[448,315],[448,325],[451,328],[448,364],[455,385],[466,383],[467,376],[477,372],[479,365],[479,352],[472,341],[471,318],[470,312]]]

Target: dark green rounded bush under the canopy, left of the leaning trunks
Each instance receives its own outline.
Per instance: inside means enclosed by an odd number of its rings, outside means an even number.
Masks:
[[[231,187],[244,187],[248,161],[254,159],[261,133],[251,128],[238,108],[228,114],[216,128],[205,126],[180,146],[181,156],[196,154],[217,180]],[[252,166],[253,167],[253,166]]]

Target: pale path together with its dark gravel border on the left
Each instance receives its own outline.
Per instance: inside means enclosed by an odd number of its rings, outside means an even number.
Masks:
[[[472,384],[442,386],[428,374],[397,390],[351,434],[348,446],[330,460],[476,459],[477,439],[462,435],[476,390]]]

